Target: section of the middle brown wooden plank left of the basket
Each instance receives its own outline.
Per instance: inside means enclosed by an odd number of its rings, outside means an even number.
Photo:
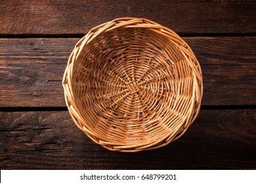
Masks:
[[[76,41],[1,39],[0,106],[64,107],[61,80]]]

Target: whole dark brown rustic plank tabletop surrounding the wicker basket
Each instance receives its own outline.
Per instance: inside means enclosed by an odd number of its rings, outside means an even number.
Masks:
[[[256,169],[255,2],[0,1],[0,169]],[[105,150],[64,102],[75,43],[123,16],[173,29],[202,65],[197,120],[157,150]]]

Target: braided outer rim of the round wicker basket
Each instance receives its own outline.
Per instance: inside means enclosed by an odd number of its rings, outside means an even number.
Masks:
[[[150,31],[154,31],[161,36],[165,37],[168,41],[172,42],[175,45],[176,49],[179,49],[179,52],[182,53],[184,56],[184,60],[188,63],[189,68],[192,72],[193,77],[193,94],[191,97],[192,104],[190,108],[190,112],[187,115],[188,118],[184,118],[186,124],[181,123],[176,126],[173,130],[173,133],[167,133],[161,139],[157,139],[156,141],[152,142],[143,142],[143,143],[133,143],[133,144],[126,144],[121,142],[114,142],[108,141],[108,139],[102,137],[95,133],[94,129],[87,125],[87,120],[81,115],[79,111],[79,107],[77,103],[75,103],[74,97],[74,88],[72,87],[72,83],[74,82],[74,63],[79,58],[81,54],[83,54],[83,50],[86,46],[91,45],[90,42],[95,41],[98,37],[102,36],[103,34],[107,34],[113,30],[119,29],[150,29]],[[203,95],[203,82],[202,82],[202,70],[200,67],[200,63],[194,56],[190,46],[177,35],[171,29],[164,27],[163,25],[157,24],[152,20],[148,20],[146,18],[116,18],[110,22],[106,22],[104,24],[100,24],[93,29],[91,29],[82,39],[80,39],[77,44],[75,44],[75,48],[70,54],[68,59],[68,64],[66,70],[64,72],[62,86],[64,88],[64,97],[66,101],[66,105],[68,107],[68,111],[72,116],[72,120],[74,123],[83,131],[91,140],[96,142],[96,144],[100,144],[104,148],[108,150],[114,151],[121,151],[121,152],[138,152],[141,150],[151,150],[155,148],[160,148],[161,146],[165,146],[169,144],[169,142],[175,141],[179,139],[185,132],[186,129],[194,122],[198,113],[200,111],[202,95]]]

